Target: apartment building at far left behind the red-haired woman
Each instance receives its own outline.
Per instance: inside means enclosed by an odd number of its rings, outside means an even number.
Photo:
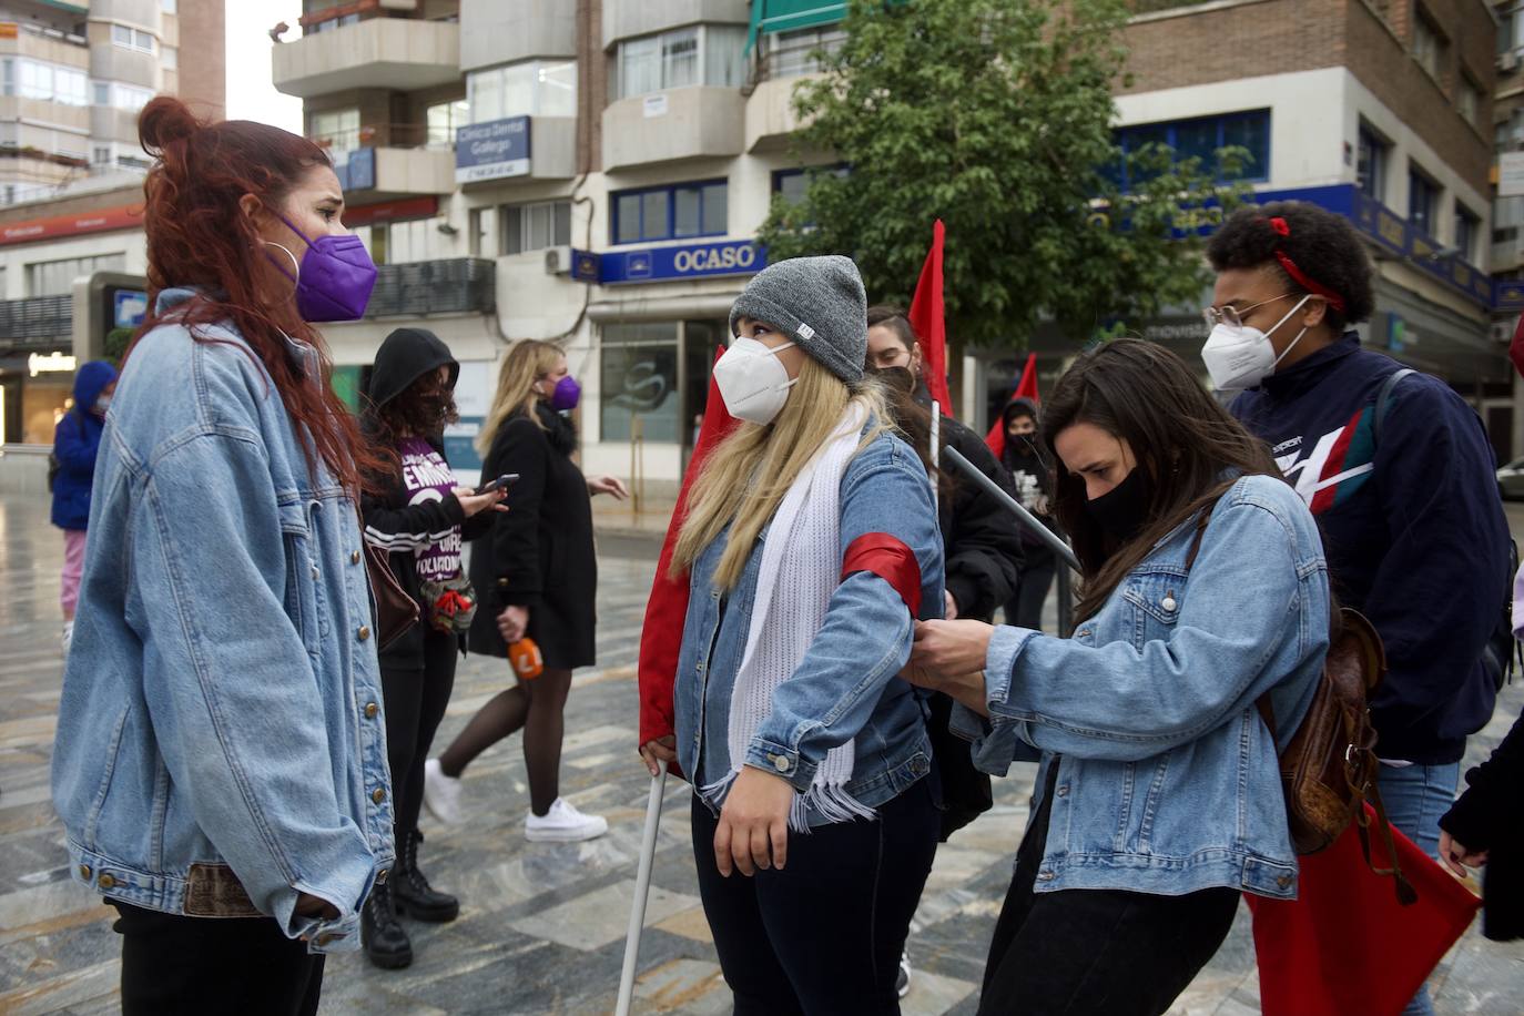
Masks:
[[[0,0],[0,443],[52,443],[73,280],[146,267],[137,114],[223,116],[223,37],[224,0]]]

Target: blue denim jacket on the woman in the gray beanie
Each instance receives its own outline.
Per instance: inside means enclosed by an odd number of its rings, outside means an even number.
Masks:
[[[920,614],[940,617],[942,536],[931,486],[916,452],[888,434],[861,449],[841,477],[843,554],[866,533],[887,533],[914,553]],[[730,771],[730,693],[751,628],[767,536],[764,529],[728,594],[712,580],[728,530],[700,553],[690,571],[674,704],[678,763],[695,784]],[[910,611],[885,579],[870,571],[847,576],[831,596],[803,663],[773,693],[773,711],[744,763],[783,777],[803,794],[826,752],[850,740],[856,760],[846,792],[855,801],[876,807],[910,789],[931,771],[927,708],[895,676],[910,658],[913,634]],[[806,818],[811,826],[823,824],[818,813]]]

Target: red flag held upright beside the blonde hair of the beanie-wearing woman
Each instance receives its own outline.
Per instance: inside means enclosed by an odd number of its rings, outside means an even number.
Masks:
[[[725,352],[724,346],[715,350],[718,361]],[[704,405],[704,422],[698,431],[698,445],[693,457],[687,462],[687,472],[683,474],[683,486],[677,494],[677,507],[672,509],[672,521],[668,524],[666,539],[661,542],[661,556],[657,559],[657,577],[651,583],[651,599],[646,600],[646,620],[640,628],[640,658],[636,666],[640,687],[640,743],[649,743],[658,737],[675,733],[672,716],[672,685],[677,682],[677,655],[683,644],[683,621],[687,618],[687,573],[680,579],[672,579],[668,571],[672,567],[672,550],[677,545],[677,535],[683,526],[683,513],[687,509],[687,495],[693,486],[693,478],[703,468],[709,452],[719,442],[730,436],[741,423],[730,416],[725,401],[719,396],[719,385],[715,376],[709,376],[709,401]],[[671,766],[677,772],[677,766]]]

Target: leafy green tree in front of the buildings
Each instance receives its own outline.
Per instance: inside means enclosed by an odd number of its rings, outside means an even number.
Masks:
[[[1149,146],[1122,190],[1126,18],[1122,0],[850,0],[846,41],[794,91],[814,168],[802,200],[774,198],[768,256],[846,253],[872,299],[905,300],[940,218],[954,347],[1024,346],[1042,318],[1079,344],[1195,303],[1196,227],[1231,209],[1216,177],[1247,152]]]

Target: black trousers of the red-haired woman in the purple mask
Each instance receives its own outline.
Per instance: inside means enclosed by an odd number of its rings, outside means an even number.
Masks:
[[[312,1016],[323,957],[273,917],[183,917],[111,903],[120,917],[123,1016]]]

